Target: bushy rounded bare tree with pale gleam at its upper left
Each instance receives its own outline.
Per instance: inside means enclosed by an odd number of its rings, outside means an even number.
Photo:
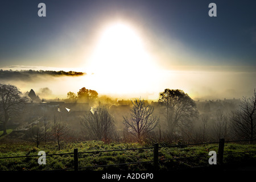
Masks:
[[[105,106],[93,107],[81,119],[81,124],[90,137],[108,141],[115,132],[115,119]]]

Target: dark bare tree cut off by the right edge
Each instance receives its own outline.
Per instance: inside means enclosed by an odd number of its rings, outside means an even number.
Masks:
[[[256,133],[256,93],[250,98],[243,97],[240,109],[233,112],[231,117],[234,134],[243,139],[255,139]]]

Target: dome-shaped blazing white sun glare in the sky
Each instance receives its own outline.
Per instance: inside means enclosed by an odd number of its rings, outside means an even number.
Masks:
[[[151,92],[156,64],[134,28],[115,23],[105,28],[87,67],[106,93]]]

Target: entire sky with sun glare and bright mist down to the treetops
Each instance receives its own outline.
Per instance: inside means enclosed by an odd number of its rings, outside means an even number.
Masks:
[[[38,16],[41,2],[46,17]],[[212,2],[217,16],[210,17]],[[55,80],[67,85],[62,92],[50,81],[0,81],[23,91],[47,86],[63,96],[83,86],[147,98],[164,88],[201,100],[250,96],[256,87],[255,7],[255,1],[230,0],[3,0],[1,69],[88,74]]]

